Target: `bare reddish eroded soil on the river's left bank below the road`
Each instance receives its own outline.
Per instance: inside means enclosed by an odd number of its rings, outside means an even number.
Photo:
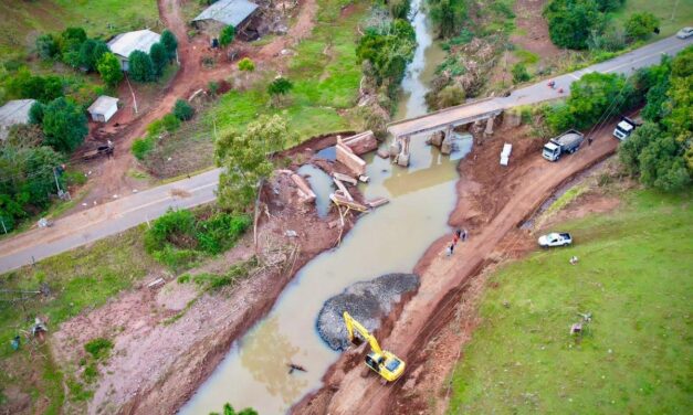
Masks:
[[[335,140],[335,136],[313,139],[311,147],[304,143],[282,156],[311,159],[315,150]],[[312,160],[328,173],[346,169],[335,162]],[[272,189],[279,189],[279,194]],[[361,200],[356,189],[353,194]],[[336,211],[318,219],[314,205],[298,201],[296,187],[285,174],[277,174],[264,187],[262,200],[258,241],[265,265],[252,277],[221,292],[200,294],[195,284],[180,284],[160,269],[136,289],[61,324],[51,347],[59,365],[67,372],[74,369],[77,377],[83,370],[78,362],[84,358],[84,343],[105,337],[115,344],[112,358],[99,368],[101,379],[88,407],[70,403],[67,413],[175,413],[217,368],[232,341],[271,309],[295,273],[336,246],[356,221],[348,215],[340,233],[339,226],[332,225],[338,222]],[[287,230],[296,231],[297,237],[286,236]],[[291,246],[296,249],[288,249]],[[254,252],[253,233],[249,232],[222,257],[190,273],[224,274],[231,264],[248,259]],[[273,263],[279,265],[266,265]],[[158,277],[164,277],[166,284],[148,288],[147,283]]]

